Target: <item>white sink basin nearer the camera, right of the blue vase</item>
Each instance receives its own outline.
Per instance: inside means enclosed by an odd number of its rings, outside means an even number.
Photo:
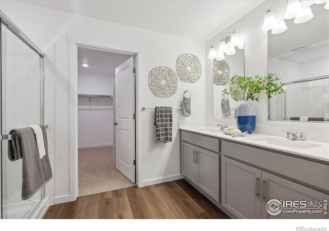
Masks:
[[[304,141],[293,141],[293,140],[286,140],[286,139],[278,139],[278,138],[260,138],[260,139],[253,139],[254,141],[263,141],[268,144],[275,144],[278,146],[284,146],[288,148],[296,148],[296,149],[308,149],[314,147],[320,147],[319,144],[311,144]]]

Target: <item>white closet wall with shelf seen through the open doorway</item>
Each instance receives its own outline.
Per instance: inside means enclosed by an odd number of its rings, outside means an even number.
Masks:
[[[113,70],[114,72],[114,70]],[[115,76],[78,72],[78,94],[113,95]],[[113,145],[113,98],[78,97],[79,148]]]

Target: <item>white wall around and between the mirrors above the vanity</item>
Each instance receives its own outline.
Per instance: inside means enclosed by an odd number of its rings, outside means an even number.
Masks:
[[[239,37],[245,41],[245,75],[267,75],[267,31],[262,31],[264,20],[264,11],[269,9],[275,1],[265,1],[260,6],[256,7],[248,14],[241,17],[236,22],[222,32],[213,36],[206,42],[205,57],[208,57],[209,47],[212,43],[222,38],[225,32],[233,31],[237,27]],[[274,11],[282,11],[280,5],[277,5]],[[286,5],[282,4],[283,7]],[[281,13],[281,15],[283,14]],[[276,14],[276,12],[275,12]],[[276,14],[278,15],[278,14]],[[289,30],[289,28],[288,28]],[[206,119],[207,121],[222,122],[236,126],[234,119],[217,119],[213,118],[213,92],[212,92],[212,60],[206,60]],[[283,121],[268,121],[267,120],[267,97],[263,95],[260,102],[253,102],[257,114],[257,126],[255,132],[274,134],[283,136],[281,130],[293,129],[299,131],[308,131],[313,133],[313,136],[308,137],[309,140],[317,140],[329,142],[329,124],[328,123],[304,123],[304,122],[283,122]]]

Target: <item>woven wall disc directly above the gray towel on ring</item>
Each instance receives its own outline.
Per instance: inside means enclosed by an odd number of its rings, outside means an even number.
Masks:
[[[201,63],[194,54],[179,55],[176,68],[179,78],[184,82],[194,83],[200,79]]]

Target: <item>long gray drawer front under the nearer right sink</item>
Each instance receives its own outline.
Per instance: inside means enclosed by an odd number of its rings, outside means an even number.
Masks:
[[[227,141],[222,141],[222,153],[329,191],[328,165]]]

